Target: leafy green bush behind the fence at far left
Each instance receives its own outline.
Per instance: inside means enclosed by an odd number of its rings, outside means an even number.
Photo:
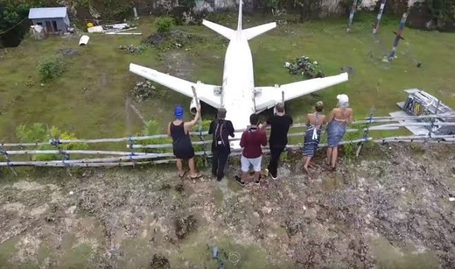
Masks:
[[[21,142],[48,142],[50,138],[58,138],[61,140],[74,140],[77,137],[74,133],[67,133],[59,130],[57,127],[52,127],[47,131],[42,123],[34,123],[32,126],[27,127],[27,125],[19,125],[16,129],[16,136]],[[88,144],[84,143],[68,143],[59,145],[59,149],[65,150],[77,150],[77,149],[87,149]],[[37,150],[52,150],[56,149],[55,146],[51,144],[45,144],[39,146]],[[32,160],[36,161],[46,161],[46,160],[61,160],[61,155],[59,154],[34,154],[32,155]]]

